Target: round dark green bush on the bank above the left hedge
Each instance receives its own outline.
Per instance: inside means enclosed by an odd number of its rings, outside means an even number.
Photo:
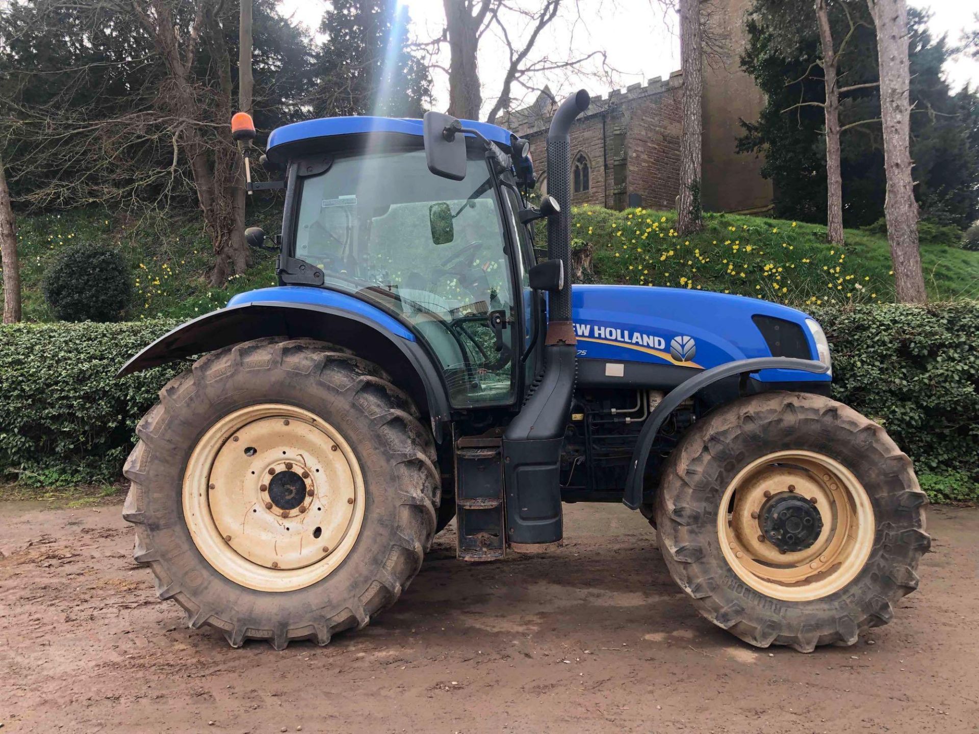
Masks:
[[[58,258],[43,290],[60,319],[118,321],[132,299],[132,274],[119,252],[78,245]]]

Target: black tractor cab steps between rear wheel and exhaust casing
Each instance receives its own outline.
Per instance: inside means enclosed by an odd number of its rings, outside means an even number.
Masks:
[[[456,557],[503,557],[503,452],[499,438],[464,437],[455,443]]]

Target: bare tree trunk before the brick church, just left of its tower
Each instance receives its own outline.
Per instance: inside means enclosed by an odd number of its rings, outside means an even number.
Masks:
[[[683,69],[683,132],[679,144],[679,202],[676,227],[681,235],[685,235],[701,228],[703,53],[700,0],[680,0],[679,46],[680,68]]]

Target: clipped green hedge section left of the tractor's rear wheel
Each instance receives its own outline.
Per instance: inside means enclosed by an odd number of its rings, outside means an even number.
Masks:
[[[116,372],[175,325],[0,327],[0,473],[37,485],[116,481],[136,422],[181,367]]]

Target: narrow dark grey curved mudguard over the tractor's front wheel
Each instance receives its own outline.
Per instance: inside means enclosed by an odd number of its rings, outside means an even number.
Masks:
[[[646,462],[649,461],[649,452],[653,447],[653,440],[659,433],[663,422],[683,400],[731,375],[746,375],[758,370],[769,369],[803,370],[804,372],[823,375],[829,372],[829,365],[817,362],[815,359],[795,359],[792,357],[738,359],[705,370],[670,390],[663,401],[649,414],[642,431],[639,432],[635,448],[632,450],[629,477],[626,480],[626,491],[622,498],[623,504],[630,510],[636,510],[642,504],[642,478],[645,473]]]

